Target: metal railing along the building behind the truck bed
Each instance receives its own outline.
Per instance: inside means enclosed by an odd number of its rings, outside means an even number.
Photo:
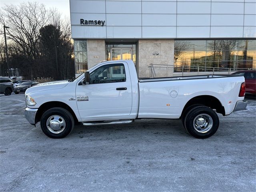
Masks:
[[[190,73],[199,75],[200,73],[218,73],[231,74],[239,70],[256,70],[255,68],[218,68],[218,67],[203,67],[203,66],[179,66],[179,65],[166,65],[166,64],[149,64],[150,77],[168,77],[173,76],[175,73]]]

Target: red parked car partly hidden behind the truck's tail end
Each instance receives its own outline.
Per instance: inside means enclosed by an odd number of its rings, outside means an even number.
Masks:
[[[244,76],[246,93],[256,94],[256,70],[243,70],[233,74]]]

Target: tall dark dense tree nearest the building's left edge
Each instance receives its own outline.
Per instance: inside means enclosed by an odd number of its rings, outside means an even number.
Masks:
[[[49,58],[51,68],[55,70],[52,75],[54,78],[66,79],[72,76],[70,67],[74,66],[71,59],[74,47],[70,22],[67,19],[62,20],[56,9],[50,10],[49,22],[40,30],[40,51]]]

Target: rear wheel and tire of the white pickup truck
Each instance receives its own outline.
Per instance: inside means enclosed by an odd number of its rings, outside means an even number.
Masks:
[[[185,128],[195,138],[205,139],[214,135],[219,127],[219,118],[214,110],[196,106],[185,117]]]

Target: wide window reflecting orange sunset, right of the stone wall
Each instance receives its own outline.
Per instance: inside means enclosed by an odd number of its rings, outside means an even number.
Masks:
[[[176,40],[174,62],[176,66],[256,68],[256,40]]]

